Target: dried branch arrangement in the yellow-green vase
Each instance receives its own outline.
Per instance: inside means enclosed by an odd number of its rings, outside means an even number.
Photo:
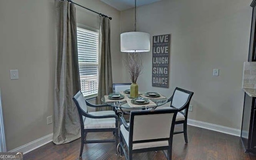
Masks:
[[[143,63],[139,53],[128,53],[124,60],[127,70],[129,71],[132,83],[136,83],[138,76],[142,74]]]

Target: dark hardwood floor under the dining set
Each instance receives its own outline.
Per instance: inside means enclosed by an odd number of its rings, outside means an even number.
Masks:
[[[179,130],[181,126],[176,126]],[[112,138],[112,134],[89,133],[87,139]],[[188,144],[183,134],[173,138],[172,160],[256,160],[244,153],[240,137],[188,126]],[[116,155],[114,143],[85,144],[82,160],[125,160]],[[48,143],[24,155],[24,160],[79,160],[80,139],[68,144]],[[134,160],[166,160],[162,151],[133,154]]]

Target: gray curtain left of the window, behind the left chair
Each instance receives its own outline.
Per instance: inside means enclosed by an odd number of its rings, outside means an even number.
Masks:
[[[72,97],[80,90],[76,38],[76,8],[55,0],[57,54],[53,142],[64,144],[80,138],[80,121]]]

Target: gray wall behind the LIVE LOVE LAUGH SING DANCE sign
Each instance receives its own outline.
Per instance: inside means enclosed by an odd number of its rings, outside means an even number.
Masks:
[[[143,53],[139,90],[170,96],[176,86],[194,92],[188,118],[240,129],[252,0],[162,0],[138,7],[137,30],[172,34],[170,88],[151,86],[152,50]],[[121,12],[121,32],[134,30],[134,10]],[[212,76],[214,68],[220,76]],[[124,69],[124,76],[127,76]],[[128,78],[128,76],[127,76]]]

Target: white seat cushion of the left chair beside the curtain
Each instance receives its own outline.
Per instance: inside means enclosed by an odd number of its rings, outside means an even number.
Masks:
[[[112,110],[88,112],[93,116],[101,115],[115,115]],[[95,128],[116,128],[116,118],[88,118],[84,120],[84,129],[95,129]]]

